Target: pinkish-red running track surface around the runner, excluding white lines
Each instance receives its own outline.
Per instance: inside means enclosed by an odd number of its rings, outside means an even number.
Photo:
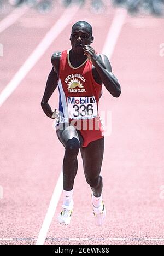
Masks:
[[[0,92],[63,11],[40,15],[29,10],[1,33]],[[64,150],[40,108],[51,54],[70,47],[71,26],[80,19],[93,25],[93,46],[101,52],[114,13],[111,7],[97,16],[87,8],[79,10],[1,106],[1,245],[36,244],[61,172]],[[163,23],[162,18],[127,15],[112,55],[122,94],[113,98],[104,89],[101,100],[101,109],[112,111],[112,134],[106,137],[102,166],[106,223],[103,228],[94,225],[79,156],[72,223],[57,223],[60,200],[44,245],[164,245]],[[50,102],[58,106],[57,91]]]

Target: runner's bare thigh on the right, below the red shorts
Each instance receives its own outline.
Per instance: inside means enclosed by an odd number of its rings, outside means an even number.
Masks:
[[[91,142],[86,148],[81,148],[83,158],[84,172],[95,172],[99,175],[102,166],[104,153],[104,138]]]

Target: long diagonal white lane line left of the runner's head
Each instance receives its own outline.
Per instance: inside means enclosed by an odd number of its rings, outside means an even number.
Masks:
[[[7,98],[13,93],[13,91],[19,86],[22,80],[26,77],[28,72],[36,65],[38,60],[42,57],[45,51],[49,48],[52,42],[57,36],[65,29],[69,24],[73,16],[78,12],[79,6],[73,6],[64,11],[62,16],[57,20],[54,26],[45,35],[42,41],[39,43],[37,48],[28,57],[25,63],[21,66],[19,71],[16,72],[13,79],[8,83],[0,94],[0,107],[7,100]]]

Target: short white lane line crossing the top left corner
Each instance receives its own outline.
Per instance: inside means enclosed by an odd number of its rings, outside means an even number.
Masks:
[[[16,8],[13,11],[11,11],[11,13],[7,17],[0,21],[0,33],[2,33],[11,25],[13,25],[29,9],[29,7],[23,6],[21,8]]]

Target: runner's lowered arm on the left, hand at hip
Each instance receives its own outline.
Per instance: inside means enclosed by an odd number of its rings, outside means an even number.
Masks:
[[[51,57],[51,62],[52,62],[53,68],[49,73],[48,80],[46,82],[45,92],[42,98],[41,106],[44,113],[48,117],[55,119],[57,117],[56,109],[55,111],[52,111],[48,101],[57,87],[60,55],[58,55],[58,53],[54,53]]]

